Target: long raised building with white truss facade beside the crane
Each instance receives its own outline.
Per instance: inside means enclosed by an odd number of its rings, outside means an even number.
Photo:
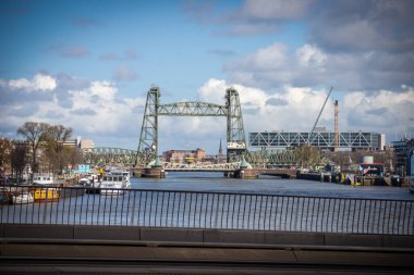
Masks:
[[[327,132],[324,127],[315,128],[310,133],[306,132],[263,132],[249,133],[249,147],[266,149],[291,148],[303,145],[310,145],[320,149],[336,149],[336,133]],[[368,132],[340,132],[338,133],[337,149],[349,150],[383,150],[386,136],[378,133]]]

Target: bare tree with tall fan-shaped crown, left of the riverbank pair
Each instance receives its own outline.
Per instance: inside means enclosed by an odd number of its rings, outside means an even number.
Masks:
[[[37,150],[40,143],[46,140],[46,134],[50,125],[47,123],[26,122],[17,129],[17,134],[26,137],[31,148],[32,172],[38,172]]]

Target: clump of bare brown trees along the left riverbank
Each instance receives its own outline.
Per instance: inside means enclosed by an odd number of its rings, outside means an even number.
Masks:
[[[13,178],[21,178],[28,165],[32,173],[62,174],[82,160],[80,148],[64,145],[72,133],[72,128],[63,125],[24,123],[17,128],[17,135],[25,140],[0,138],[1,173],[10,172]]]

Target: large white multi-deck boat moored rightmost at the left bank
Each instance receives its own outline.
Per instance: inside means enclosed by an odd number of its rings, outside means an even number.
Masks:
[[[130,172],[124,170],[112,170],[107,173],[100,183],[100,195],[121,196],[131,189]]]

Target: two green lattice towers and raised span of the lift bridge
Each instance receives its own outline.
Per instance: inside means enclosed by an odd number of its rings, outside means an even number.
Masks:
[[[158,155],[158,116],[226,116],[227,117],[227,161],[238,161],[246,151],[242,109],[239,92],[234,88],[226,90],[226,104],[185,101],[160,104],[160,90],[151,87],[147,93],[136,166],[145,166]]]

